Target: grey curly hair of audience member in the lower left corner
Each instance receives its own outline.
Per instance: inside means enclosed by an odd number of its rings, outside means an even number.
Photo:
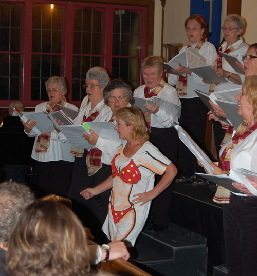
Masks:
[[[0,184],[0,244],[8,246],[8,239],[20,213],[35,200],[30,188],[17,182]]]

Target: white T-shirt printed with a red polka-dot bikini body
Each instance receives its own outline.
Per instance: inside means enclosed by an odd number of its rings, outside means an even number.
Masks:
[[[147,219],[151,201],[143,206],[134,205],[133,195],[151,191],[155,174],[162,175],[171,161],[150,142],[145,142],[133,156],[127,158],[123,154],[126,143],[124,141],[116,149],[111,162],[113,189],[102,230],[111,241],[123,240],[134,246]]]

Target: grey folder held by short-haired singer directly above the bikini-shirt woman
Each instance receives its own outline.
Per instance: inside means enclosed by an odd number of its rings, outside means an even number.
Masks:
[[[163,98],[159,97],[152,97],[150,98],[140,98],[140,97],[134,97],[135,103],[134,106],[138,107],[143,112],[148,112],[148,110],[145,109],[143,105],[154,105],[154,102],[158,105],[158,107],[164,111],[166,111],[168,114],[172,116],[176,116],[180,118],[181,116],[181,106],[174,104],[170,101],[163,100]]]

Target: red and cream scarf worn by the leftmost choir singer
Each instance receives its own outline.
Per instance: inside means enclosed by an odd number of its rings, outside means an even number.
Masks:
[[[67,103],[66,98],[64,97],[62,101],[60,101],[58,104],[64,106]],[[55,111],[61,110],[58,105],[54,105],[52,107],[51,102],[49,101],[46,105],[46,111],[50,114]],[[50,147],[50,140],[51,138],[46,135],[40,135],[38,136],[38,139],[36,140],[36,146],[35,146],[35,152],[36,153],[47,153],[48,148]]]

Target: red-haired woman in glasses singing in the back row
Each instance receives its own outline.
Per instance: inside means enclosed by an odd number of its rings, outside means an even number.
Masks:
[[[206,58],[207,65],[212,65],[217,54],[214,45],[207,41],[207,24],[204,17],[193,14],[187,18],[184,24],[189,42],[180,52],[191,47]],[[182,65],[180,65],[180,68],[173,70],[173,72],[179,74],[179,76],[169,74],[168,83],[176,85],[181,101],[182,113],[179,123],[194,141],[204,149],[206,113],[208,109],[196,95],[194,89],[208,93],[209,84],[204,83],[200,77]],[[184,74],[186,76],[183,76]],[[204,172],[203,169],[198,166],[195,156],[182,142],[179,142],[179,165],[182,170],[182,176],[176,182],[191,181],[193,185],[204,184],[203,181],[196,180],[195,175],[195,172]]]

